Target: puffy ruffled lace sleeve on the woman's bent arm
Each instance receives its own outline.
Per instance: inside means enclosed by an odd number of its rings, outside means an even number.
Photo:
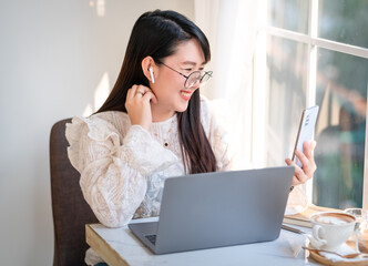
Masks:
[[[146,176],[176,162],[141,126],[132,126],[122,140],[102,119],[74,117],[65,135],[69,158],[81,173],[83,196],[109,227],[129,223],[146,193]]]

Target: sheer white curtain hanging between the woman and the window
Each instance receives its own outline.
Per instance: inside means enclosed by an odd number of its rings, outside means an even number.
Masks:
[[[235,166],[252,166],[252,82],[259,1],[195,0],[195,22],[208,38],[213,80],[202,93],[232,135]]]

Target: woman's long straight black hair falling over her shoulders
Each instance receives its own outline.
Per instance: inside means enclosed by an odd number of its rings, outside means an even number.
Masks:
[[[205,62],[211,59],[209,43],[202,30],[175,11],[155,10],[143,13],[135,22],[116,83],[99,112],[126,112],[126,93],[134,84],[150,86],[142,70],[142,60],[152,57],[161,64],[175,53],[177,44],[196,39]],[[196,90],[185,112],[177,113],[180,142],[185,168],[194,173],[214,172],[216,158],[201,123],[201,98]]]

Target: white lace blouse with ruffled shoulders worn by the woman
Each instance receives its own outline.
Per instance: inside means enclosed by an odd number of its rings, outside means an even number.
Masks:
[[[214,120],[208,101],[201,99],[201,120],[219,171],[231,168],[225,131]],[[68,155],[81,174],[85,201],[105,226],[160,214],[165,177],[185,174],[176,115],[152,123],[146,131],[131,125],[124,112],[103,112],[67,124]],[[86,262],[95,254],[88,252]],[[89,258],[90,257],[90,258]]]

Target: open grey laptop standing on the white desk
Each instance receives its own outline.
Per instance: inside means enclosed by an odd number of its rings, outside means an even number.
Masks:
[[[129,228],[154,254],[278,238],[294,166],[165,180],[160,219]]]

